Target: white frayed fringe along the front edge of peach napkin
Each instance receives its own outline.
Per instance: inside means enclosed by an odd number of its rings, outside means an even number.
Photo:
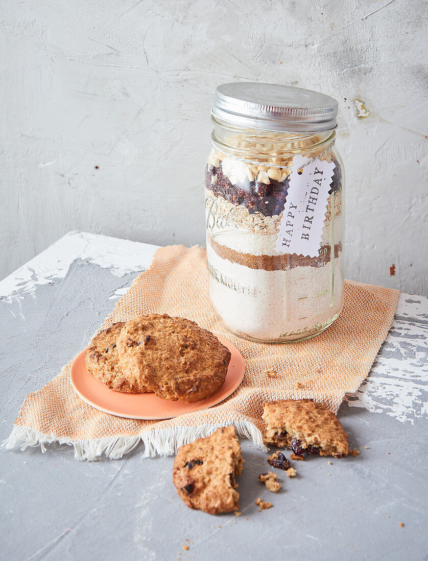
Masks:
[[[221,426],[230,425],[235,427],[239,436],[252,440],[254,448],[266,450],[261,431],[249,421],[227,421],[199,426],[173,426],[150,430],[137,436],[108,436],[106,438],[84,440],[58,438],[53,434],[40,433],[38,430],[27,426],[15,426],[9,438],[4,440],[2,448],[11,450],[20,445],[21,450],[25,450],[28,446],[40,446],[42,452],[46,452],[46,444],[68,444],[74,448],[76,459],[93,462],[102,454],[111,459],[119,459],[124,454],[131,452],[142,440],[144,444],[143,458],[156,458],[157,456],[172,456],[181,445],[193,442],[197,438],[210,436]]]

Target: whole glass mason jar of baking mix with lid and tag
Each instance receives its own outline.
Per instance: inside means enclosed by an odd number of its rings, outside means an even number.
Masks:
[[[257,82],[218,86],[205,170],[213,311],[246,339],[321,333],[343,306],[338,103]]]

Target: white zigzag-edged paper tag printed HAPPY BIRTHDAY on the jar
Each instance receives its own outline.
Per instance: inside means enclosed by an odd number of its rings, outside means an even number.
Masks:
[[[276,251],[318,257],[334,162],[294,158]],[[297,170],[302,168],[299,175]]]

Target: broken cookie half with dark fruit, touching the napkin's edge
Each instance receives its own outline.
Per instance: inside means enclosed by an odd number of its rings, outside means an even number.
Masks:
[[[265,442],[303,452],[343,458],[348,454],[348,435],[339,419],[312,399],[280,399],[263,404],[267,425]]]

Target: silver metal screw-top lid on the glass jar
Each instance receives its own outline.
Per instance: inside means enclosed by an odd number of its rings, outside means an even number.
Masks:
[[[336,126],[338,102],[292,86],[230,82],[217,86],[211,113],[231,125],[268,131],[328,131]]]

